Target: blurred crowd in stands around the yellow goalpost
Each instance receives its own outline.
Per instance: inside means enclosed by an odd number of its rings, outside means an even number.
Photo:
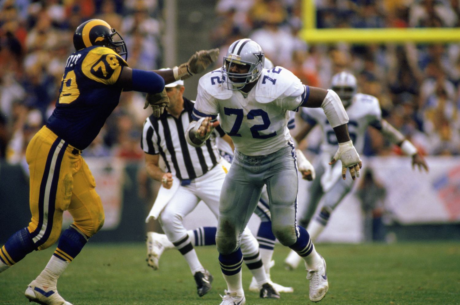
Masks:
[[[227,50],[236,39],[254,39],[276,66],[311,86],[329,88],[335,73],[349,71],[358,79],[358,92],[379,98],[384,118],[424,154],[460,154],[460,44],[309,45],[299,38],[301,12],[297,0],[220,0],[211,41]],[[459,22],[458,0],[316,1],[317,28],[458,27]],[[372,128],[367,138],[366,155],[401,154]],[[316,148],[315,139],[308,144]]]

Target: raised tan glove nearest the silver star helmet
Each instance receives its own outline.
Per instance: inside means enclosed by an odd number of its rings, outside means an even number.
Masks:
[[[201,73],[206,70],[206,68],[209,67],[209,65],[211,65],[214,61],[216,61],[218,56],[219,49],[197,51],[190,57],[189,61],[181,64],[179,67],[173,68],[174,77],[176,79],[186,79],[190,78],[192,75]]]

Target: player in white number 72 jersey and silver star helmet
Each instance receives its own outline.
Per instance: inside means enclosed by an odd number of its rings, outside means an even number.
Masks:
[[[200,78],[193,109],[196,121],[190,122],[185,133],[189,144],[201,146],[219,125],[214,122],[219,114],[221,127],[235,144],[233,164],[221,191],[216,233],[219,263],[227,283],[221,305],[246,303],[240,239],[264,185],[272,231],[281,244],[304,258],[311,301],[320,301],[328,291],[326,263],[305,228],[296,225],[297,157],[287,128],[288,111],[322,107],[339,142],[331,164],[341,160],[343,176],[349,168],[353,179],[362,166],[338,95],[302,84],[285,68],[263,69],[264,60],[264,51],[255,41],[239,39],[232,43],[223,67]]]

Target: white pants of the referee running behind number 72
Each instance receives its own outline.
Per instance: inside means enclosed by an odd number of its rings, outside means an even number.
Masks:
[[[195,209],[200,200],[203,200],[216,219],[218,218],[220,191],[226,171],[227,168],[224,170],[224,167],[218,164],[206,174],[193,179],[189,185],[179,186],[159,217],[161,228],[171,242],[174,243],[187,234],[183,224],[184,217]],[[255,255],[259,251],[257,239],[247,227],[242,232],[241,250],[245,256]]]

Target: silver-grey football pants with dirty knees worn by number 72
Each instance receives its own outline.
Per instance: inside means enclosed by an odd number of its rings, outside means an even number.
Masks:
[[[297,156],[293,144],[270,155],[248,156],[235,151],[219,202],[217,250],[230,254],[253,214],[264,184],[270,201],[272,231],[281,244],[297,240]]]

